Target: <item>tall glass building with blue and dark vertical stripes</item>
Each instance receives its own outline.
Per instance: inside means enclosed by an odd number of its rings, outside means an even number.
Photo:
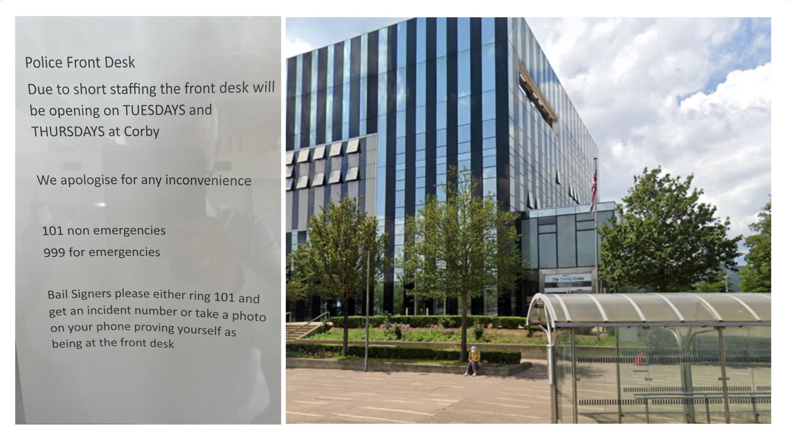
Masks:
[[[414,18],[288,58],[285,123],[288,251],[306,240],[310,216],[330,198],[352,196],[377,217],[393,259],[405,217],[427,194],[440,198],[451,167],[470,171],[479,196],[523,212],[524,240],[533,238],[534,212],[572,208],[574,216],[591,201],[597,146],[522,18]],[[543,238],[549,224],[539,221],[541,256],[550,227]],[[581,229],[574,235],[582,240]],[[545,256],[538,269],[584,270],[579,256],[564,267],[565,242],[557,242],[555,264]],[[524,253],[534,245],[526,244]],[[376,312],[457,312],[452,301],[414,304],[397,275],[394,267],[385,272]],[[524,315],[523,294],[540,288],[526,284],[545,282],[531,278],[511,295],[474,299],[471,312]],[[303,319],[326,304],[288,306]]]

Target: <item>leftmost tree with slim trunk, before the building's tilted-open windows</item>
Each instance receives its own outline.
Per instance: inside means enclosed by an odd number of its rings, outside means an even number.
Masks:
[[[287,295],[298,299],[317,295],[337,300],[344,309],[342,355],[348,354],[348,301],[366,290],[367,252],[370,253],[370,289],[385,264],[385,234],[377,235],[377,220],[359,208],[353,197],[310,219],[307,242],[288,256]],[[370,291],[371,293],[371,291]]]

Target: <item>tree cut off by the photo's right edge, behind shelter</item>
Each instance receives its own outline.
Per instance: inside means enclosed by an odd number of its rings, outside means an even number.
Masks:
[[[745,238],[744,245],[749,248],[745,256],[747,265],[739,271],[739,286],[742,291],[764,293],[771,291],[771,201],[766,203],[758,220],[749,225],[755,232]]]

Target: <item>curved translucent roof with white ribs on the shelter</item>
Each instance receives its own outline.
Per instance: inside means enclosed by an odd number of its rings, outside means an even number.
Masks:
[[[771,293],[537,294],[530,325],[771,326]]]

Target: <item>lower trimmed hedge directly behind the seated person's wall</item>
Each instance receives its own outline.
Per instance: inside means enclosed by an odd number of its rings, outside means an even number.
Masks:
[[[334,355],[342,352],[342,345],[288,344],[287,352],[299,352],[316,356]],[[348,345],[349,356],[364,356],[364,346]],[[390,360],[459,360],[459,349],[429,349],[400,346],[370,345],[370,358]],[[519,351],[482,351],[481,359],[489,363],[519,364]]]

